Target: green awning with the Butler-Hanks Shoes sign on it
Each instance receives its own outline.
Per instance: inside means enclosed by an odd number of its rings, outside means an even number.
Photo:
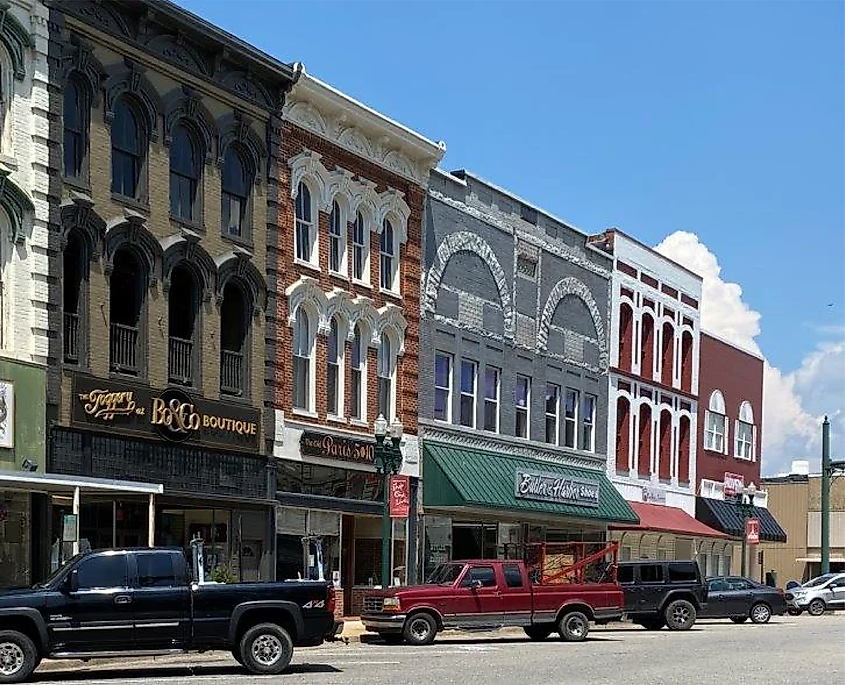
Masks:
[[[506,509],[606,523],[639,523],[601,471],[423,443],[423,505]]]

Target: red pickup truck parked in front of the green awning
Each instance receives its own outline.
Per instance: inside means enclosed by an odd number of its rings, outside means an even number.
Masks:
[[[376,590],[364,597],[364,627],[386,642],[430,644],[450,628],[521,627],[532,640],[557,630],[580,642],[590,621],[620,620],[624,607],[616,582],[537,585],[522,561],[441,564],[425,585]]]

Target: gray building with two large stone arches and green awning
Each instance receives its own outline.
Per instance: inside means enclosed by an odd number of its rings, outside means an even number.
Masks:
[[[420,302],[423,572],[603,541],[612,262],[465,171],[432,175]]]

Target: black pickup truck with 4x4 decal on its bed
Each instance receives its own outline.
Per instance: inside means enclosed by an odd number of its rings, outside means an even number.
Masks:
[[[181,549],[95,551],[32,588],[0,591],[0,683],[42,658],[158,656],[229,650],[249,672],[276,674],[294,646],[332,635],[330,583],[195,583]]]

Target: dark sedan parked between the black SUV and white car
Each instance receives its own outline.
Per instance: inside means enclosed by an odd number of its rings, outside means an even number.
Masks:
[[[707,606],[699,618],[729,618],[734,623],[768,623],[772,616],[786,613],[783,590],[755,583],[748,578],[728,576],[707,579]]]

